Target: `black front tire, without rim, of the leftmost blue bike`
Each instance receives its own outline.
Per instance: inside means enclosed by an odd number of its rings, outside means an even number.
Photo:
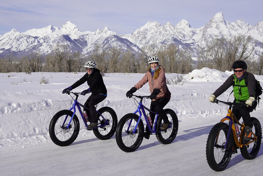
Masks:
[[[56,122],[61,116],[65,116],[65,115],[68,115],[68,118],[70,118],[73,115],[73,112],[69,111],[69,110],[61,110],[53,116],[53,118],[51,119],[50,124],[49,124],[50,139],[54,142],[54,144],[56,144],[58,146],[68,146],[68,145],[72,144],[72,142],[75,141],[75,139],[77,138],[77,136],[79,134],[79,120],[78,120],[78,117],[76,115],[74,115],[74,117],[72,119],[72,125],[74,125],[74,131],[72,132],[71,137],[65,141],[60,141],[57,138],[57,136],[55,134]]]

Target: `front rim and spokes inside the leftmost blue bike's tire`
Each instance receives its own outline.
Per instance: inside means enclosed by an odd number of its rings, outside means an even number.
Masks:
[[[70,137],[73,136],[74,131],[76,129],[76,124],[75,124],[74,119],[72,119],[69,128],[66,129],[67,126],[68,126],[68,123],[70,121],[70,118],[71,118],[70,116],[67,117],[67,120],[66,120],[64,126],[62,126],[66,116],[67,115],[60,116],[58,118],[58,120],[56,121],[55,126],[54,126],[55,137],[58,140],[60,140],[60,141],[67,141],[67,140],[69,140]]]

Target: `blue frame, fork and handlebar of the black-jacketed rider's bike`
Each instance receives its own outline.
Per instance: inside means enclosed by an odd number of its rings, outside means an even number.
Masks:
[[[89,108],[85,107],[84,105],[80,104],[80,103],[77,101],[80,93],[74,93],[74,92],[70,92],[70,93],[73,93],[73,94],[76,96],[76,98],[75,98],[75,100],[74,100],[73,106],[69,109],[69,111],[71,111],[71,110],[73,109],[74,112],[73,112],[72,117],[71,117],[70,120],[69,120],[69,123],[68,123],[68,126],[67,126],[66,129],[69,128],[69,126],[70,126],[70,124],[71,124],[71,121],[72,121],[72,119],[73,119],[73,117],[74,117],[74,115],[75,115],[75,113],[76,113],[76,108],[75,108],[76,106],[78,107],[80,116],[82,117],[82,120],[83,120],[85,126],[88,128],[88,124],[87,124],[87,122],[86,122],[86,120],[85,120],[85,117],[84,117],[83,114],[82,114],[82,111],[81,111],[81,109],[80,109],[80,106],[83,107],[83,108],[85,108],[86,110],[89,110]],[[68,93],[68,94],[69,94],[69,93]],[[71,96],[71,95],[70,95],[70,96]],[[71,97],[72,97],[72,96],[71,96]],[[72,97],[72,98],[73,98],[73,97]],[[104,119],[104,121],[105,121],[105,124],[104,124],[104,125],[100,125],[100,126],[98,126],[98,127],[96,127],[96,128],[109,125],[109,122],[103,117],[103,115],[102,115],[101,113],[99,113],[97,110],[96,110],[96,113],[98,113],[98,114]],[[65,118],[62,126],[64,126],[67,118],[68,118],[68,115],[66,116],[66,118]]]

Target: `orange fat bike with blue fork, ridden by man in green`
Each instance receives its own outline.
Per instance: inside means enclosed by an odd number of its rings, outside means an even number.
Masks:
[[[229,108],[226,117],[222,118],[219,123],[213,126],[207,138],[206,160],[210,168],[215,171],[224,170],[227,167],[232,154],[237,153],[237,149],[240,149],[241,155],[245,159],[251,160],[256,158],[259,153],[262,138],[259,120],[255,117],[251,117],[253,124],[251,140],[245,140],[244,122],[239,123],[231,111],[234,104],[245,105],[245,103],[224,102],[218,99],[216,99],[214,103],[226,104]],[[224,121],[228,123],[225,123]],[[236,124],[236,127],[234,124]]]

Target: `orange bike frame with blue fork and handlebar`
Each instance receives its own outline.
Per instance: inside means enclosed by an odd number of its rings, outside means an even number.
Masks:
[[[218,100],[218,102],[225,103],[225,104],[227,103],[227,102],[223,102],[223,101],[219,101],[219,100]],[[241,144],[242,143],[242,136],[243,136],[245,125],[244,125],[244,122],[243,123],[239,123],[239,121],[237,120],[235,115],[232,113],[232,106],[229,107],[226,117],[222,118],[220,122],[224,122],[224,121],[227,121],[227,120],[229,121],[230,124],[229,124],[229,130],[228,130],[228,134],[227,134],[227,137],[226,137],[226,144],[224,146],[224,149],[227,148],[227,143],[228,143],[230,132],[231,132],[230,130],[232,130],[236,146],[239,147],[239,148],[243,148],[243,147],[245,147],[245,146],[247,146],[247,145],[249,145],[252,142],[255,142],[257,140],[256,135],[252,132],[252,134],[254,136],[253,140],[248,142],[248,143],[246,143],[246,144]],[[241,126],[240,138],[239,139],[237,138],[237,135],[236,135],[236,129],[235,129],[234,122],[236,122],[239,126]],[[214,145],[215,147],[217,145],[218,136],[219,136],[219,134],[217,135],[216,140],[215,140],[215,145]]]

